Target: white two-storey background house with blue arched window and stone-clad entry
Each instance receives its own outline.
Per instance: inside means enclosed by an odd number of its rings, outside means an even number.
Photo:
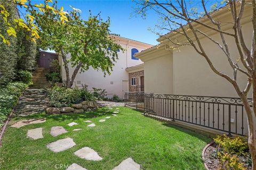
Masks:
[[[107,97],[111,98],[114,94],[118,95],[120,98],[124,98],[124,93],[127,91],[136,91],[143,90],[143,72],[141,74],[133,74],[138,70],[133,69],[135,67],[141,67],[143,62],[140,59],[134,57],[135,53],[146,50],[147,48],[152,47],[152,45],[147,43],[142,43],[135,41],[133,39],[119,37],[111,35],[115,38],[116,42],[120,44],[125,51],[118,51],[118,60],[115,62],[113,71],[110,75],[104,74],[102,71],[94,70],[90,68],[85,72],[77,74],[73,86],[82,87],[82,85],[88,85],[89,90],[92,90],[93,87],[106,89]],[[61,75],[62,79],[66,79],[66,72],[61,63],[62,60],[59,59],[61,66]],[[70,72],[74,71],[69,65]],[[133,74],[133,76],[129,76]],[[140,89],[139,89],[140,88]]]

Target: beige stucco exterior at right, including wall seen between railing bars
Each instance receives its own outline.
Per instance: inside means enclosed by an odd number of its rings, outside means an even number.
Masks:
[[[251,22],[252,10],[245,8],[243,15],[242,29],[244,33],[244,39],[247,46],[251,47],[252,42],[252,22]],[[227,8],[221,9],[214,13],[214,18],[219,19],[224,23],[222,27],[228,33],[233,33],[233,24],[231,15],[228,13]],[[207,25],[211,25],[210,21],[207,18],[200,19]],[[208,30],[202,26],[196,26],[198,29],[203,31],[205,34],[210,35],[215,41],[221,42],[219,33],[215,31]],[[191,33],[188,34],[191,36]],[[180,34],[169,33],[165,35],[168,38],[178,38],[179,42],[186,42],[184,37],[181,37]],[[200,41],[203,45],[203,48],[207,55],[210,56],[210,59],[218,70],[224,72],[225,74],[233,77],[233,70],[231,69],[226,55],[220,50],[220,48],[211,42],[208,38],[204,36],[199,36]],[[236,61],[239,59],[239,54],[233,37],[225,36],[227,44],[229,46],[230,54],[233,57],[233,60]],[[194,39],[194,37],[191,37]],[[145,74],[145,92],[146,93],[158,93],[158,94],[175,94],[175,95],[202,95],[202,96],[220,96],[220,97],[238,97],[233,85],[231,85],[225,78],[215,74],[209,64],[206,62],[203,56],[199,55],[192,46],[176,46],[173,45],[168,39],[161,37],[157,39],[160,43],[157,46],[151,47],[146,51],[136,54],[135,56],[141,59],[144,62],[144,74]],[[243,68],[241,61],[238,62],[238,65]],[[245,68],[243,68],[245,69]],[[238,71],[237,74],[238,84],[241,89],[244,89],[247,84],[247,76]],[[252,96],[252,92],[249,93],[249,98]],[[154,101],[156,102],[156,101]],[[161,102],[161,101],[159,101]],[[166,108],[170,105],[170,100],[167,103],[162,103],[153,107],[153,111],[157,112],[158,115],[166,114]],[[147,102],[146,102],[147,103]],[[199,105],[191,107],[193,102],[183,103],[183,107],[186,104],[187,113],[197,112],[200,109]],[[158,103],[159,104],[159,103]],[[172,103],[173,104],[173,103]],[[196,102],[194,102],[196,104]],[[199,104],[199,102],[197,103]],[[167,106],[167,107],[166,107]],[[179,108],[179,105],[178,105]],[[215,108],[215,111],[213,111]],[[228,125],[228,105],[225,105],[225,108],[219,108],[217,111],[218,104],[206,104],[202,109],[206,110],[205,117],[195,117],[201,122],[209,122],[209,126],[213,126],[218,121],[218,114],[220,113],[225,117],[223,124],[225,124],[225,130],[227,131]],[[210,116],[208,116],[208,111]],[[245,134],[247,133],[247,122],[245,110],[231,110],[231,129],[234,130],[236,127],[238,133],[241,133],[242,129],[242,117],[243,117],[243,127]],[[173,112],[172,110],[167,111],[167,113]],[[175,113],[180,113],[180,110],[174,108]],[[213,114],[214,113],[214,114]],[[224,114],[223,114],[224,113]],[[237,116],[237,118],[236,118]],[[213,118],[214,117],[214,118]],[[189,116],[183,115],[183,118],[189,119]],[[191,120],[191,117],[190,117]],[[222,119],[223,120],[223,119]],[[222,124],[222,122],[220,122]],[[201,124],[202,125],[202,124]]]

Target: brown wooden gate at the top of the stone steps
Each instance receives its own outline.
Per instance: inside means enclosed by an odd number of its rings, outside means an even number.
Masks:
[[[58,55],[41,51],[38,60],[38,66],[43,68],[50,68],[52,60],[58,60]]]

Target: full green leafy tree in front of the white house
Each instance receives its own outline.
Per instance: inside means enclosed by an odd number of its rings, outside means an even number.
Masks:
[[[57,9],[57,3],[52,8]],[[104,22],[100,14],[93,16],[90,13],[89,18],[83,20],[80,11],[75,8],[66,15],[68,22],[62,22],[59,14],[47,9],[44,14],[36,10],[29,12],[41,30],[39,46],[61,53],[68,88],[73,85],[79,70],[85,71],[92,67],[101,69],[105,75],[110,74],[113,62],[117,59],[117,50],[123,49],[109,36],[109,19]],[[71,75],[69,66],[75,68]]]

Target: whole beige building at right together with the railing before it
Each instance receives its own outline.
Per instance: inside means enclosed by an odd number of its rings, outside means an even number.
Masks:
[[[223,30],[234,33],[233,19],[228,10],[228,6],[225,6],[211,15],[214,19],[221,21]],[[253,33],[251,18],[251,5],[245,5],[241,25],[245,44],[248,47],[251,47]],[[211,25],[211,21],[206,16],[199,20],[205,25]],[[215,41],[222,42],[216,31],[197,23],[193,23],[193,25],[210,35]],[[191,35],[189,31],[188,34]],[[234,38],[226,35],[225,37],[233,60],[238,62],[239,53]],[[191,39],[193,38],[191,37]],[[157,39],[158,45],[134,55],[144,62],[145,94],[141,97],[141,94],[126,93],[126,106],[137,109],[140,107],[145,114],[171,119],[189,128],[196,126],[195,128],[201,130],[207,127],[207,129],[218,130],[229,135],[247,135],[245,110],[233,85],[225,78],[215,74],[205,58],[199,55],[194,47],[177,46],[169,39],[179,39],[179,42],[186,41],[181,34],[170,32]],[[199,39],[213,65],[233,77],[233,69],[219,46],[203,35],[200,35]],[[238,65],[243,68],[241,62],[238,62]],[[130,69],[132,70],[132,68]],[[136,70],[136,67],[133,70]],[[247,76],[238,72],[237,82],[244,89]],[[249,92],[248,97],[251,98],[251,96],[252,91]],[[255,118],[254,123],[256,123]]]

